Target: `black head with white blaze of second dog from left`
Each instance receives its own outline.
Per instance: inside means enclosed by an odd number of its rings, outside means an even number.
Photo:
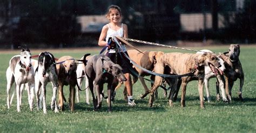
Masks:
[[[43,77],[45,77],[46,71],[51,65],[56,65],[54,56],[47,51],[40,53],[38,56],[38,68],[42,69]]]

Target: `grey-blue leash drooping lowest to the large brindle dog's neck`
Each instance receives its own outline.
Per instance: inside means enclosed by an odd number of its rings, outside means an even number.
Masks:
[[[118,36],[119,37],[119,36]],[[119,37],[120,38],[120,37]],[[117,40],[116,36],[113,36],[113,39],[114,41],[117,43],[117,45],[120,47],[120,43],[119,41]],[[124,42],[125,43],[125,42]],[[123,49],[122,49],[123,51]],[[142,69],[143,71],[147,72],[147,73],[150,73],[151,75],[156,75],[156,76],[160,76],[160,77],[164,77],[164,78],[179,78],[179,77],[186,77],[186,76],[190,76],[194,73],[195,70],[189,72],[189,73],[186,73],[184,75],[166,75],[166,74],[160,74],[160,73],[156,73],[156,72],[153,72],[153,71],[150,71],[150,70],[147,70],[143,67],[140,67],[140,65],[138,65],[137,63],[135,63],[134,61],[131,60],[131,58],[129,56],[127,56],[124,51],[123,51],[123,54],[126,58],[128,58],[130,60],[130,62],[136,66],[137,68],[139,69]]]

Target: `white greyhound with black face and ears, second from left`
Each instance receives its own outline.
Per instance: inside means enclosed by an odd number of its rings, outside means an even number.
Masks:
[[[38,57],[38,67],[35,71],[35,90],[36,90],[36,98],[37,98],[37,109],[39,110],[39,92],[42,92],[43,97],[43,112],[46,114],[46,85],[48,82],[52,83],[52,101],[51,101],[51,109],[55,109],[55,113],[58,112],[57,103],[56,103],[56,95],[58,88],[58,76],[57,69],[54,56],[45,51],[39,54]],[[42,86],[42,87],[41,87]],[[41,90],[42,89],[42,90]]]

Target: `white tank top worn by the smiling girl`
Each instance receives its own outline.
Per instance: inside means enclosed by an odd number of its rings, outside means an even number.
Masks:
[[[107,34],[106,34],[106,39],[105,39],[106,41],[108,41],[110,37],[115,36],[115,35],[118,35],[120,37],[124,36],[123,24],[122,24],[121,28],[118,29],[117,31],[114,31],[113,29],[111,29],[109,24],[106,24],[106,25],[109,27],[109,29],[107,29]],[[126,51],[126,47],[123,44],[120,44],[120,45],[123,50],[119,48],[119,51]],[[116,53],[116,50],[114,50],[114,49],[107,49],[107,50],[109,50],[109,53]]]

